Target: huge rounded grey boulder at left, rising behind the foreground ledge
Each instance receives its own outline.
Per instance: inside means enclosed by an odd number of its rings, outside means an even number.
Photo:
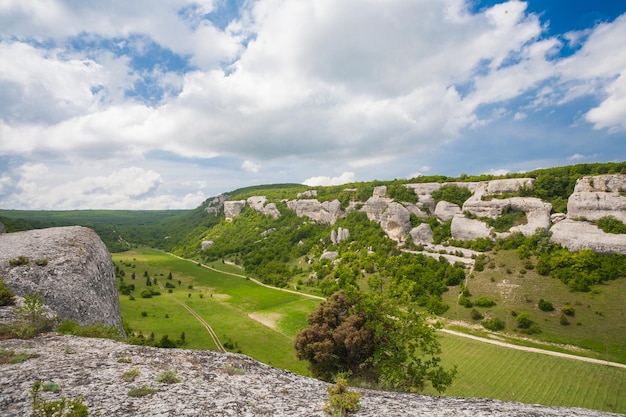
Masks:
[[[10,261],[28,258],[18,266]],[[0,276],[17,295],[37,292],[60,319],[123,331],[115,268],[91,229],[55,227],[0,235]]]

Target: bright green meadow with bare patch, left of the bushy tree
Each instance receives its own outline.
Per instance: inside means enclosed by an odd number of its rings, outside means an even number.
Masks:
[[[166,334],[176,340],[185,332],[184,347],[216,349],[206,329],[174,301],[177,299],[200,314],[222,343],[235,345],[235,351],[279,368],[308,374],[307,364],[295,356],[293,337],[306,327],[306,315],[319,301],[265,288],[151,249],[113,254],[113,260],[125,271],[124,281],[136,287],[134,301],[120,295],[122,317],[132,329],[145,336],[154,333],[157,341]],[[135,280],[130,278],[133,271]],[[167,275],[172,272],[173,280],[169,282],[176,288],[171,294],[160,290],[160,296],[141,298],[139,294],[146,284],[144,271],[161,285],[168,282]],[[146,317],[142,312],[147,313]]]

